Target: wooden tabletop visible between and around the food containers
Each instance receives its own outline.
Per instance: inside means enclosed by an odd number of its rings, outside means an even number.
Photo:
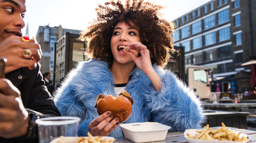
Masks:
[[[217,129],[219,127],[212,127],[212,128]],[[241,131],[242,133],[247,134],[249,137],[247,143],[256,143],[256,131],[244,130],[244,129],[238,129],[238,128],[230,128],[230,129],[234,131]],[[126,139],[125,137],[120,137],[120,138],[116,138],[114,143],[133,143],[133,142]],[[168,132],[165,140],[151,142],[151,143],[188,143],[188,141],[184,137],[183,132]]]

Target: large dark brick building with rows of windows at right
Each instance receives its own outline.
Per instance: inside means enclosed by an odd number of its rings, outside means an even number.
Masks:
[[[256,55],[255,9],[255,0],[212,0],[175,19],[174,44],[184,47],[185,64],[207,67],[223,92],[253,90],[255,81],[238,82],[237,74],[251,78],[250,66],[241,64]]]

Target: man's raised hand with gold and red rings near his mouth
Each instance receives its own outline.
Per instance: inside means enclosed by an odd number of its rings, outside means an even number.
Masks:
[[[32,60],[28,60],[23,55],[25,49],[30,49]],[[42,57],[42,50],[39,44],[34,40],[23,42],[21,37],[10,36],[0,42],[0,56],[7,59],[5,73],[22,67],[29,67],[31,70],[36,68],[37,62]]]

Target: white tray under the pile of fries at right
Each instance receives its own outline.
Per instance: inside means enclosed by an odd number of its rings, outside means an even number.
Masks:
[[[195,139],[195,138],[187,137],[187,133],[190,134],[191,136],[199,134],[198,132],[196,132],[198,130],[199,129],[188,129],[184,132],[184,137],[189,141],[189,143],[243,143],[241,141],[239,142],[239,141],[226,141],[226,140],[206,140],[206,139]]]

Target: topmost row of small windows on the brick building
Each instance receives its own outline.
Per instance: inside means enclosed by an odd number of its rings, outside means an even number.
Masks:
[[[220,6],[222,6],[222,5],[224,5],[224,4],[227,4],[227,0],[218,0],[218,6],[220,7]],[[240,7],[240,2],[239,2],[239,0],[235,0],[234,2],[233,2],[233,8],[239,8]],[[210,7],[209,7],[210,9],[210,11],[212,11],[213,9],[214,9],[214,4],[213,4],[213,2],[211,2],[210,3]],[[208,12],[208,5],[205,5],[204,7],[203,7],[203,12],[204,13],[207,13]],[[191,17],[192,17],[192,19],[194,19],[195,18],[195,13],[197,13],[197,17],[199,17],[200,16],[200,9],[197,9],[197,10],[195,10],[195,11],[193,11],[192,13],[191,13]],[[188,15],[186,15],[185,16],[185,21],[187,22],[188,21]],[[181,24],[183,24],[184,23],[184,18],[183,17],[181,17]],[[178,20],[176,20],[176,24],[178,25],[179,24],[179,21]]]

